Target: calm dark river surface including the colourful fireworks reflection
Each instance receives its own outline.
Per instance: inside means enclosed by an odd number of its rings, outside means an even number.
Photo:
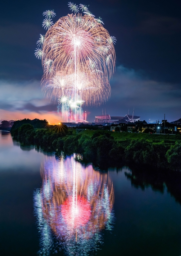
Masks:
[[[181,255],[180,174],[100,172],[75,157],[1,132],[2,256]]]

